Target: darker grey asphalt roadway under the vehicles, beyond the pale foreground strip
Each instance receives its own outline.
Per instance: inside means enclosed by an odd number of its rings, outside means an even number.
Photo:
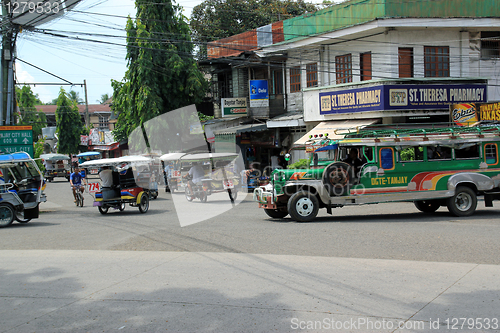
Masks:
[[[500,203],[476,214],[456,218],[446,208],[433,215],[418,212],[411,203],[344,207],[333,215],[320,211],[311,223],[290,218],[273,220],[257,208],[251,195],[215,218],[180,227],[170,193],[137,208],[101,215],[87,194],[77,208],[68,183],[49,183],[48,202],[40,219],[14,223],[1,230],[0,249],[189,251],[286,254],[367,259],[402,259],[500,264]],[[185,202],[182,193],[174,194]],[[224,197],[221,199],[228,202]],[[187,204],[187,202],[185,202]],[[203,215],[220,201],[188,207]]]

